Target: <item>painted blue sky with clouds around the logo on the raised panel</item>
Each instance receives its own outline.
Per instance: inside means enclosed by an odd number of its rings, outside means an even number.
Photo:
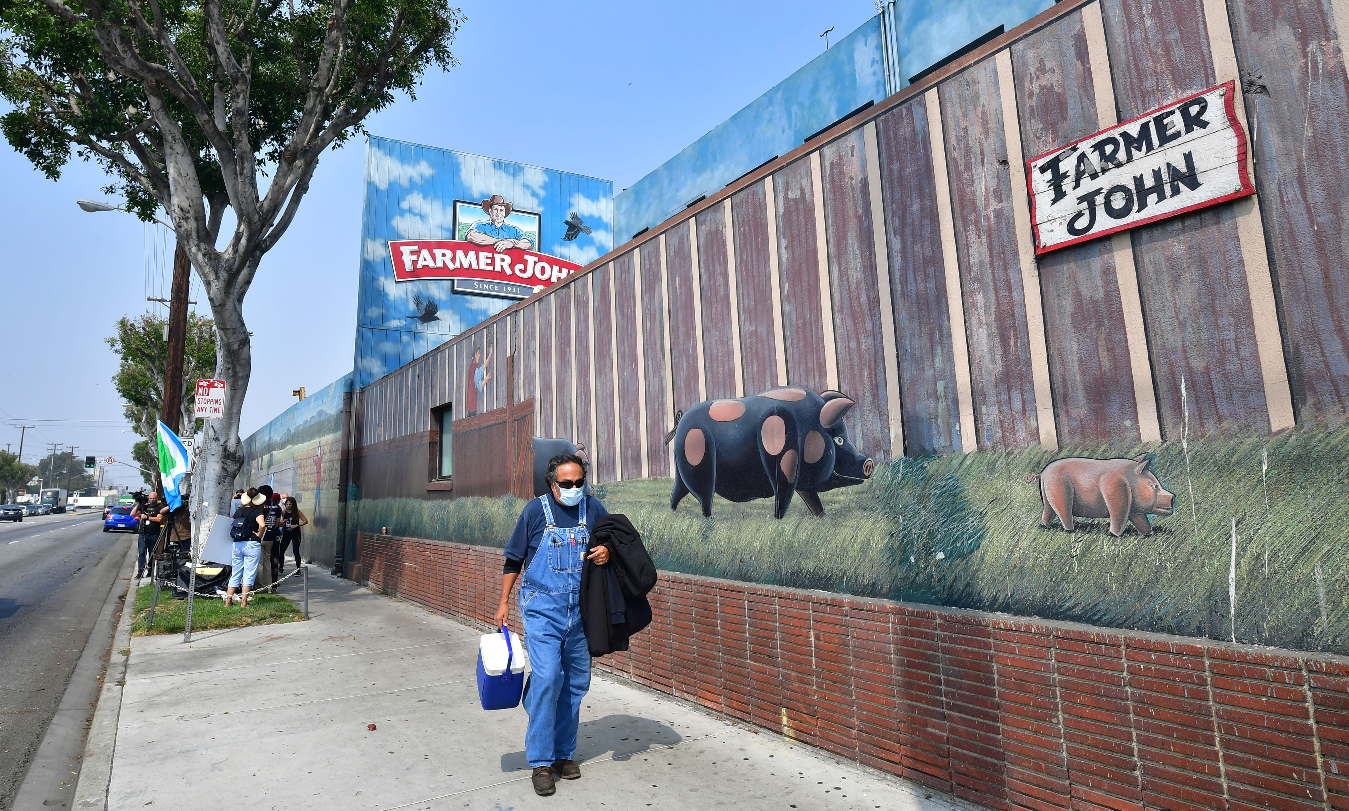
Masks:
[[[451,282],[395,282],[389,240],[453,239],[455,200],[500,194],[540,215],[537,250],[585,264],[614,247],[614,184],[527,163],[371,136],[366,144],[360,283],[356,298],[356,385],[364,386],[453,335],[510,306],[461,296]],[[591,233],[563,242],[563,220],[580,215]],[[434,301],[438,321],[421,324],[413,296]]]

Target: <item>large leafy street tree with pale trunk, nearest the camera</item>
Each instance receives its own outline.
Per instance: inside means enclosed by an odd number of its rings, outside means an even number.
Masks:
[[[78,155],[142,217],[163,208],[210,301],[229,389],[197,486],[217,513],[244,462],[243,301],[258,263],[322,151],[453,65],[460,23],[444,0],[0,1],[0,96],[13,105],[0,131],[53,179]]]

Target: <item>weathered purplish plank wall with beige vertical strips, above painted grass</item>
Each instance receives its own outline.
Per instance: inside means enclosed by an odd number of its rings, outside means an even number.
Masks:
[[[584,443],[600,480],[669,475],[677,410],[780,385],[855,398],[878,462],[1155,441],[1184,408],[1191,433],[1341,421],[1337,24],[1330,0],[1059,3],[367,386],[355,480],[441,495],[430,412],[483,340],[517,355],[538,436]],[[1036,260],[1025,158],[1229,80],[1257,196]]]

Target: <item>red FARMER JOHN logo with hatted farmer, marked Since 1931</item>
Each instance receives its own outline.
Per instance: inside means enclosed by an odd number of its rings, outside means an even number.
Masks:
[[[515,209],[500,194],[482,202],[455,201],[456,239],[389,243],[394,281],[451,279],[455,293],[529,298],[581,269],[540,254],[537,213]]]

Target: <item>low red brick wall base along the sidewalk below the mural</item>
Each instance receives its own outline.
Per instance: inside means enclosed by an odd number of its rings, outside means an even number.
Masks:
[[[352,576],[491,622],[500,551]],[[996,808],[1349,811],[1349,660],[661,574],[603,671]],[[513,611],[514,618],[514,611]]]

